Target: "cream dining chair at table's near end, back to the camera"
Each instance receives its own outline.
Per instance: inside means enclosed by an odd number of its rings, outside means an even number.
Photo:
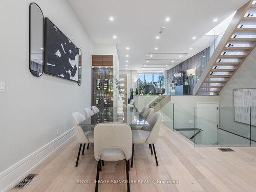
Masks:
[[[94,127],[94,141],[94,157],[98,161],[95,191],[98,191],[97,181],[101,171],[101,161],[120,160],[125,160],[127,191],[130,191],[130,182],[128,182],[129,159],[132,156],[132,131],[130,125],[126,123],[99,123]]]

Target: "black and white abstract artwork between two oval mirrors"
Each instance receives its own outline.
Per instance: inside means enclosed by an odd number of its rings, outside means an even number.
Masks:
[[[78,81],[79,49],[45,18],[45,73]]]

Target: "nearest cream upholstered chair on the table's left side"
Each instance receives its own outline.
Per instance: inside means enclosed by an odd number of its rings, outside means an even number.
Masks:
[[[76,167],[77,167],[82,144],[83,144],[83,149],[82,149],[82,155],[83,155],[84,147],[86,146],[86,144],[88,143],[88,146],[87,146],[87,148],[88,148],[89,143],[93,143],[93,131],[84,132],[82,127],[80,125],[78,125],[80,122],[86,120],[86,118],[84,118],[82,116],[82,114],[80,114],[78,112],[72,113],[72,119],[73,119],[74,129],[75,129],[75,133],[76,133],[76,138],[77,138],[78,143],[80,143],[79,151],[78,151],[78,155],[77,155],[77,159],[76,159]]]

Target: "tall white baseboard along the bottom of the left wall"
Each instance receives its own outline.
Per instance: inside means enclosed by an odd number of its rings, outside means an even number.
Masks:
[[[7,191],[16,182],[23,179],[33,168],[44,161],[49,155],[57,150],[74,136],[74,128],[63,133],[56,139],[39,148],[29,156],[0,173],[0,191]]]

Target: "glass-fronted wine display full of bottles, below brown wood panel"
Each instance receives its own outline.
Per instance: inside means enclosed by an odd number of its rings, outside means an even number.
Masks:
[[[113,67],[92,67],[92,105],[113,108]]]

